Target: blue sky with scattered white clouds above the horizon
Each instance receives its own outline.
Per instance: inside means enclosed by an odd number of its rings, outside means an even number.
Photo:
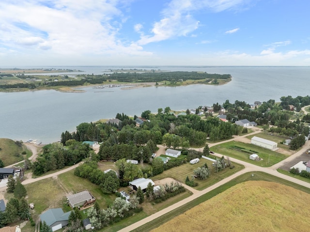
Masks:
[[[0,0],[5,66],[310,66],[309,0]]]

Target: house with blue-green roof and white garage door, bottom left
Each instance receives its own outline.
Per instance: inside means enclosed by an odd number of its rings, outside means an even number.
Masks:
[[[71,211],[63,213],[61,208],[49,209],[45,213],[40,215],[41,222],[46,222],[47,226],[52,229],[52,231],[57,231],[68,225],[68,218]]]

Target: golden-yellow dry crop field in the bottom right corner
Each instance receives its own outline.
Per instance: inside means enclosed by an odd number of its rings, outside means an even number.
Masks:
[[[152,232],[309,231],[310,195],[274,182],[240,183]]]

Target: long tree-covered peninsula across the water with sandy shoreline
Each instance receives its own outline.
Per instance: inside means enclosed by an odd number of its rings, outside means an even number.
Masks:
[[[184,86],[190,84],[222,85],[232,80],[230,74],[206,72],[170,72],[160,70],[110,70],[111,74],[56,75],[58,72],[82,72],[67,69],[0,69],[0,91],[15,92],[54,89],[73,92],[71,87],[126,84],[129,88],[147,86]],[[121,72],[120,72],[121,71]],[[40,73],[51,73],[50,76]],[[53,74],[55,73],[55,75]],[[27,75],[28,74],[28,75]]]

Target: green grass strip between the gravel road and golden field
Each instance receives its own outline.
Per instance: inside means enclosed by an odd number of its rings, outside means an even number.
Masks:
[[[152,231],[153,229],[159,227],[159,225],[162,225],[165,222],[170,221],[172,218],[174,218],[178,215],[184,214],[187,210],[195,207],[196,205],[198,205],[204,201],[207,201],[207,200],[213,198],[214,196],[217,196],[217,194],[226,191],[227,189],[229,189],[232,186],[235,186],[239,183],[246,182],[246,181],[261,181],[261,180],[268,181],[268,182],[275,182],[275,183],[279,183],[279,184],[286,185],[286,186],[291,186],[297,190],[300,190],[300,191],[303,191],[305,193],[310,194],[310,189],[307,187],[296,185],[290,181],[283,180],[281,178],[275,177],[273,175],[269,175],[269,174],[264,173],[264,172],[245,173],[245,174],[242,174],[242,175],[238,176],[237,178],[233,179],[232,181],[230,181],[230,182],[228,182],[222,186],[219,186],[216,189],[202,195],[201,197],[195,199],[194,201],[190,201],[187,204],[185,204],[185,205],[183,205],[183,206],[181,206],[175,210],[172,210],[171,212],[169,212],[169,213],[167,213],[161,217],[158,217],[158,218],[152,220],[151,222],[137,228],[136,230],[133,230],[133,232],[140,232],[140,231],[149,232],[149,231]],[[221,204],[222,203],[218,204],[218,207]],[[213,210],[212,213],[213,212],[216,212],[216,210]],[[196,221],[196,219],[194,219],[194,220]],[[209,225],[206,224],[205,228],[208,228],[208,226]],[[196,230],[192,230],[192,231],[196,231]],[[204,231],[204,230],[201,230],[201,231]],[[230,231],[230,230],[228,230],[228,231]],[[247,230],[245,230],[245,231],[247,231]],[[267,231],[270,231],[270,230],[267,230]],[[288,231],[290,231],[290,230],[288,230]]]

